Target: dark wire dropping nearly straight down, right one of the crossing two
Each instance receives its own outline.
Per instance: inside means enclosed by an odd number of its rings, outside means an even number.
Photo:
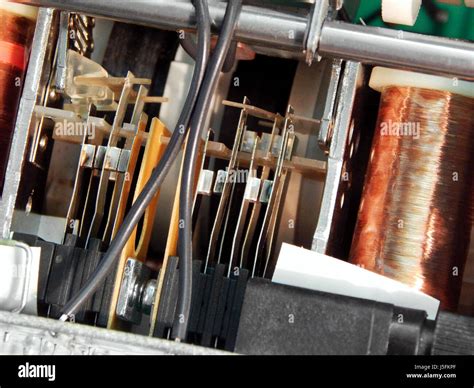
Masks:
[[[232,37],[242,8],[242,0],[229,0],[222,24],[219,40],[206,71],[203,86],[199,94],[196,109],[191,119],[189,139],[184,155],[179,198],[180,224],[179,230],[179,294],[176,310],[176,325],[173,336],[180,341],[186,339],[192,300],[192,204],[194,195],[194,179],[196,175],[199,142],[206,129],[211,109],[212,97],[218,85],[219,75],[225,58],[232,44]]]

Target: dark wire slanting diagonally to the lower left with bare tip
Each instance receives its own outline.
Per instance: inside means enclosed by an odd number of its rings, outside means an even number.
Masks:
[[[79,290],[79,292],[64,306],[61,320],[70,319],[83,306],[83,304],[92,297],[94,292],[104,282],[107,276],[113,273],[114,265],[116,265],[117,260],[120,258],[120,254],[130,238],[133,229],[145,213],[148,205],[163,183],[163,180],[168,174],[181,149],[184,137],[188,132],[188,125],[192,112],[194,111],[201,90],[211,44],[211,21],[207,0],[197,0],[194,2],[194,6],[196,8],[199,55],[197,55],[196,66],[194,68],[188,96],[183,110],[181,111],[176,128],[171,136],[168,146],[166,147],[162,159],[158,166],[153,170],[150,179],[123,220],[123,223],[120,226],[116,237],[110,244],[103,260],[87,280],[84,287],[81,288],[81,290]]]

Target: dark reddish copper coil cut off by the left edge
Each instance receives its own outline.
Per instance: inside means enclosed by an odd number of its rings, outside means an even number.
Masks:
[[[28,46],[35,23],[0,10],[0,195],[10,153],[15,119],[26,72]]]

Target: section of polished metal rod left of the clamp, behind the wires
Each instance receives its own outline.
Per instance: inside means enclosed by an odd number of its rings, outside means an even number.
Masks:
[[[91,16],[132,22],[164,30],[195,29],[190,0],[13,0]],[[226,3],[209,4],[215,26],[224,20]],[[242,8],[236,37],[239,41],[285,51],[304,49],[307,20],[284,12],[246,5]]]

